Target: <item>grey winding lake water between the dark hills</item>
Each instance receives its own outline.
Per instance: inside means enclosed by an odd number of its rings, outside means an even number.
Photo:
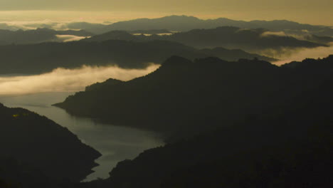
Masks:
[[[31,95],[1,96],[0,103],[8,107],[26,108],[57,122],[78,135],[85,144],[102,153],[96,160],[100,166],[90,174],[86,181],[107,178],[117,162],[137,157],[140,152],[163,145],[162,140],[154,132],[137,130],[130,127],[104,125],[89,118],[73,117],[60,108],[51,106],[62,102],[73,93],[37,93]]]

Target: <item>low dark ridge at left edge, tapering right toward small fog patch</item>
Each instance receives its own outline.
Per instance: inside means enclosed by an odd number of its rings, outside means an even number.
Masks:
[[[71,36],[93,36],[93,33],[87,31],[56,31],[48,28],[37,28],[36,30],[0,30],[0,45],[42,43],[46,41],[60,41],[57,35]]]

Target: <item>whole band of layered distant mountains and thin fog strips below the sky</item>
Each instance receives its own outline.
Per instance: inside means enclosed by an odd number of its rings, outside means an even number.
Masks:
[[[166,40],[196,48],[239,48],[250,53],[261,53],[261,50],[268,48],[275,50],[279,48],[285,50],[285,47],[313,48],[330,46],[333,42],[331,27],[311,26],[291,21],[247,22],[230,19],[201,20],[193,16],[166,16],[159,19],[120,21],[110,25],[65,23],[64,29],[73,30],[64,31],[50,29],[55,23],[50,24],[48,26],[47,23],[43,23],[41,27],[45,28],[36,30],[0,30],[0,45],[67,42],[84,38],[87,38],[87,41]],[[6,23],[1,23],[0,28],[1,26],[10,28]],[[90,36],[93,38],[89,38]]]

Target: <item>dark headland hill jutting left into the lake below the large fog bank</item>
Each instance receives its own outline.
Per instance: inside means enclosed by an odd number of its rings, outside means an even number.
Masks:
[[[207,121],[213,126],[216,120],[233,120],[253,104],[263,103],[275,91],[277,74],[278,67],[265,61],[191,62],[173,57],[154,73],[76,93],[58,106],[75,115],[153,130],[192,123],[195,127]]]

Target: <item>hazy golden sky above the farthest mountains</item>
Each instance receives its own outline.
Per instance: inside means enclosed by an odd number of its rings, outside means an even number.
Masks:
[[[115,22],[185,14],[333,26],[332,10],[332,0],[0,0],[0,21]]]

